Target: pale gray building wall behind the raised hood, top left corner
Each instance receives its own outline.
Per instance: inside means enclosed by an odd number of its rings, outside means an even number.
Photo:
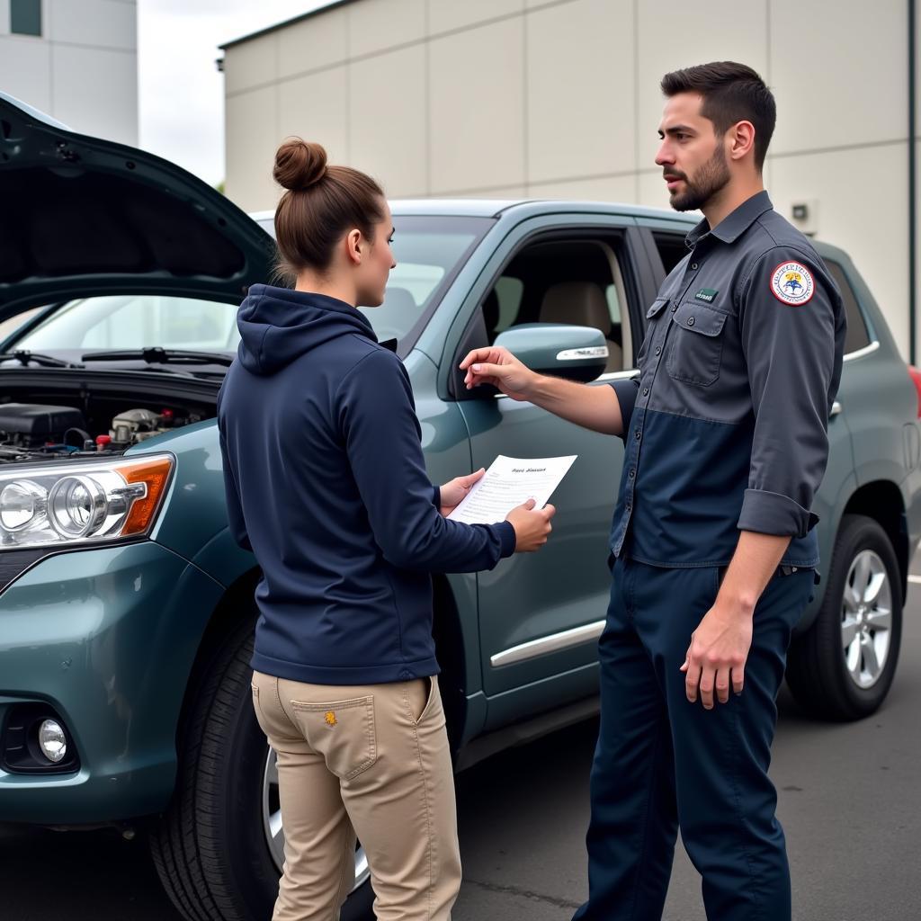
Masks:
[[[0,89],[74,131],[137,144],[136,0],[41,0],[41,36],[10,26],[0,0]]]

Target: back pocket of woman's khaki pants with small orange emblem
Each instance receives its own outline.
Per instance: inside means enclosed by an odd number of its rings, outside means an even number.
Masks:
[[[317,704],[293,700],[291,709],[304,738],[342,780],[351,780],[378,760],[374,697]]]

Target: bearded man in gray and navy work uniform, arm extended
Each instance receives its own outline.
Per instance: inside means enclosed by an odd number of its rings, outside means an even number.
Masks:
[[[600,638],[589,901],[579,921],[659,918],[678,827],[707,917],[784,921],[790,885],[767,776],[790,633],[819,562],[845,314],[810,241],[772,209],[775,101],[741,64],[668,74],[656,163],[704,213],[647,311],[634,379],[537,375],[506,350],[461,363],[580,426],[624,437]]]

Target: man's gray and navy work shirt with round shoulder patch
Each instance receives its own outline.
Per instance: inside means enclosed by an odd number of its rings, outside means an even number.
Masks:
[[[687,245],[647,311],[639,373],[612,385],[625,443],[612,554],[729,565],[752,530],[792,537],[784,564],[817,565],[841,295],[767,192]]]

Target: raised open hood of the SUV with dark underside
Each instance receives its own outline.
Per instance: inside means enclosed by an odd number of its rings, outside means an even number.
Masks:
[[[0,93],[0,321],[106,293],[239,301],[273,239],[192,173]]]

